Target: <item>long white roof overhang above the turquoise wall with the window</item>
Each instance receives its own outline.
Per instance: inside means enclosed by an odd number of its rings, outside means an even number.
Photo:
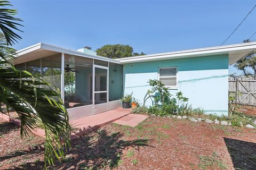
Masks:
[[[158,53],[143,56],[126,57],[119,58],[117,60],[119,60],[120,63],[125,64],[228,54],[229,65],[231,65],[237,62],[240,58],[252,52],[253,50],[256,50],[256,42],[182,50],[170,53]]]

